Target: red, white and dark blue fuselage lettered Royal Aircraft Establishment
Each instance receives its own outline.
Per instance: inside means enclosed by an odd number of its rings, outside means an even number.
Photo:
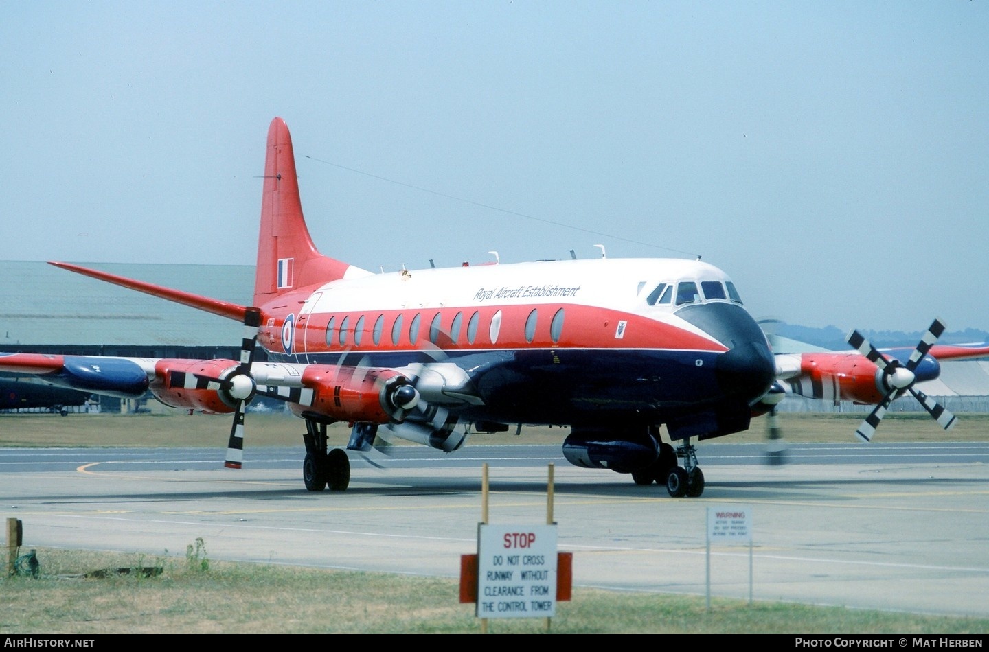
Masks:
[[[750,406],[774,377],[763,331],[734,285],[698,261],[353,270],[261,306],[267,319],[258,342],[269,360],[452,365],[467,371],[481,399],[457,406],[467,420],[687,420],[683,432],[701,437],[737,432],[726,419],[748,427]],[[657,292],[661,285],[669,293]]]

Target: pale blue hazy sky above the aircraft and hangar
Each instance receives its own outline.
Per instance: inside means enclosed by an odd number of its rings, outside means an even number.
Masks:
[[[989,2],[0,0],[8,260],[686,257],[757,318],[989,329]],[[220,297],[224,298],[224,297]]]

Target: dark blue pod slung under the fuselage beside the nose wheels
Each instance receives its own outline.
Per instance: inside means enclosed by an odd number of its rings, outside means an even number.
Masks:
[[[610,468],[631,473],[652,464],[660,456],[660,445],[650,435],[632,434],[619,439],[611,430],[574,431],[564,440],[563,455],[571,464],[584,468]]]

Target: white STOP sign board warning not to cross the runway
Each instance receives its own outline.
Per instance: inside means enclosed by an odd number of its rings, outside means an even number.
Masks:
[[[480,525],[478,617],[553,617],[556,576],[556,526]]]

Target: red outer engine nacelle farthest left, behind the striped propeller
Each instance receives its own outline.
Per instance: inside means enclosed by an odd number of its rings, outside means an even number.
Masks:
[[[228,414],[236,409],[236,399],[208,378],[226,378],[236,368],[232,360],[159,360],[149,389],[169,407]]]

